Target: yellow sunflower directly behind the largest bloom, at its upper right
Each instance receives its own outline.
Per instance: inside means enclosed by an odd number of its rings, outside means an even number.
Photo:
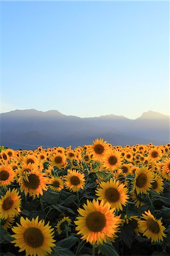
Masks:
[[[102,181],[100,186],[101,188],[98,188],[96,191],[98,200],[109,202],[111,208],[122,210],[122,205],[125,206],[129,198],[127,195],[128,189],[125,185],[119,183],[119,181],[110,180],[107,182]]]

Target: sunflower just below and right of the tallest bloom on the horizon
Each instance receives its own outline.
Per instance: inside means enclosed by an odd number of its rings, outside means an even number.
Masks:
[[[109,150],[102,158],[102,166],[106,170],[114,171],[121,166],[122,158],[121,153],[116,150]]]

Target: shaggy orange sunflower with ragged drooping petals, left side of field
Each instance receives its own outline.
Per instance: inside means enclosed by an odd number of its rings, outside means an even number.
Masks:
[[[20,176],[19,179],[20,191],[24,191],[25,195],[29,193],[30,196],[39,197],[43,195],[43,189],[47,191],[48,177],[45,177],[42,172],[38,170],[31,170],[24,176]]]

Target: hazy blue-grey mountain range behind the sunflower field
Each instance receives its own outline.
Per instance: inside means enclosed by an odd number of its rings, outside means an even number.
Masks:
[[[114,114],[80,118],[57,110],[35,109],[0,114],[0,144],[15,150],[34,150],[40,145],[77,147],[100,137],[122,146],[166,144],[170,142],[169,116],[148,111],[136,119]]]

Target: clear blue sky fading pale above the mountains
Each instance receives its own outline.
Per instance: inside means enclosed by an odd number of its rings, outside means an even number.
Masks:
[[[169,114],[168,2],[1,2],[1,112]]]

